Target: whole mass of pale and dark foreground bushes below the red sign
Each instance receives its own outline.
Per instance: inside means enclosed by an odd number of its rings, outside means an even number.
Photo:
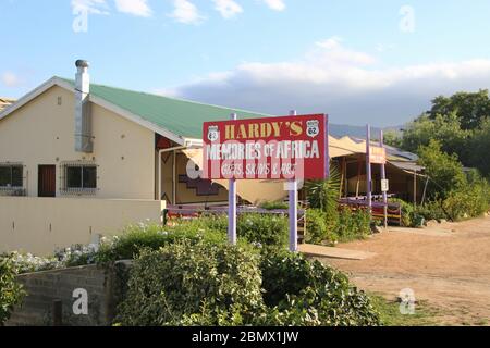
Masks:
[[[285,251],[180,241],[143,251],[121,325],[378,325],[369,298],[320,262]]]

